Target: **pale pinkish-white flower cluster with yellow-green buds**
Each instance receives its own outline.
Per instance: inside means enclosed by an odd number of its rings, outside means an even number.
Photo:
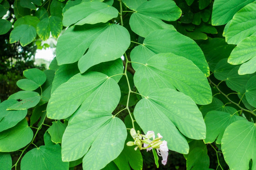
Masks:
[[[163,165],[166,165],[167,157],[168,157],[168,147],[167,142],[161,141],[163,136],[161,136],[159,133],[157,134],[158,137],[155,138],[154,131],[147,131],[146,135],[140,134],[139,131],[137,131],[134,128],[131,128],[130,134],[132,138],[134,139],[134,142],[129,141],[127,143],[128,146],[134,146],[137,145],[134,149],[137,150],[139,148],[140,150],[146,149],[146,151],[150,151],[152,149],[156,149],[157,154],[159,156],[162,156]],[[152,140],[153,138],[153,140]],[[142,146],[143,145],[143,146]]]

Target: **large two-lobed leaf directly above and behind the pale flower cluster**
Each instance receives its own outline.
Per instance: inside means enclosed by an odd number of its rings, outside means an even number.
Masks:
[[[168,148],[179,153],[187,154],[189,151],[181,133],[192,139],[204,139],[206,135],[205,124],[195,102],[172,89],[159,89],[141,99],[134,109],[134,116],[145,133],[149,130],[160,133]]]

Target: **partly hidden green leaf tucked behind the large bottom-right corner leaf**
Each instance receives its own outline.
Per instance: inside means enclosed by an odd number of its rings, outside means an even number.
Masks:
[[[230,113],[212,110],[209,111],[204,117],[206,125],[206,138],[203,140],[205,144],[213,143],[216,140],[216,144],[221,143],[222,136],[225,129],[233,122],[238,120],[246,120],[243,117],[237,115],[231,115]]]

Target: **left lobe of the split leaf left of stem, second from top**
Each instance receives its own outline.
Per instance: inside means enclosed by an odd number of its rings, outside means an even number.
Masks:
[[[78,61],[91,43],[107,28],[107,25],[84,25],[68,28],[60,36],[56,46],[58,65]]]

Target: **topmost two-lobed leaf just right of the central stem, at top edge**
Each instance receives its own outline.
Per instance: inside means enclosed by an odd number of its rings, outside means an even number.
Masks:
[[[129,25],[136,34],[146,37],[158,29],[173,29],[166,21],[175,21],[181,17],[182,11],[171,0],[150,0],[142,3],[130,17]]]

